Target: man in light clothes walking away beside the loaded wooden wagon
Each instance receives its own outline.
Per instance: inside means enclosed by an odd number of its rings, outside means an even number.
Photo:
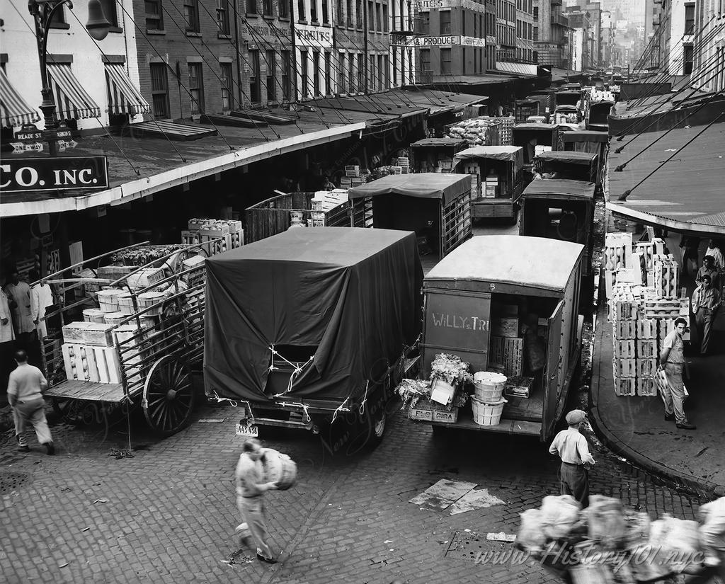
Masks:
[[[10,373],[7,399],[13,410],[17,449],[21,452],[30,451],[25,439],[25,430],[28,424],[31,424],[36,430],[38,442],[46,447],[48,454],[55,454],[43,399],[48,382],[38,367],[28,364],[28,354],[23,349],[15,351],[15,362],[17,367]]]

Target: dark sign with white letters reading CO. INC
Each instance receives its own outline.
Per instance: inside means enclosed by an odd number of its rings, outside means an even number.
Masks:
[[[108,188],[106,157],[4,159],[0,188],[6,193]]]

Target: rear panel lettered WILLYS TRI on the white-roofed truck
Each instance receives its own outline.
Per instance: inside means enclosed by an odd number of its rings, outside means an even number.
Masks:
[[[484,371],[489,363],[491,294],[463,290],[423,288],[423,373],[439,353],[452,353]]]

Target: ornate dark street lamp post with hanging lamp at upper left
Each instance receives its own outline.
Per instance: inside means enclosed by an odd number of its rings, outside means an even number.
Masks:
[[[43,121],[45,123],[43,137],[49,143],[51,156],[55,156],[58,152],[57,134],[55,132],[58,122],[55,118],[56,104],[53,99],[53,90],[48,80],[48,54],[46,48],[53,14],[63,4],[66,4],[69,9],[73,7],[71,0],[28,0],[28,11],[36,24],[38,59],[41,64],[41,83],[43,85],[41,88],[41,95],[43,96],[41,112],[43,112]],[[102,41],[108,35],[110,26],[110,22],[106,20],[103,13],[100,1],[90,0],[88,2],[88,22],[86,23],[88,33],[96,41]]]

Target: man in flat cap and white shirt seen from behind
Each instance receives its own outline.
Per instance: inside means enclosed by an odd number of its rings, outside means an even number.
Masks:
[[[566,423],[569,427],[561,430],[551,443],[549,451],[561,458],[560,481],[562,495],[571,495],[581,503],[582,507],[589,506],[589,470],[585,464],[595,464],[594,458],[589,454],[587,438],[579,433],[587,412],[573,409],[566,414]]]

